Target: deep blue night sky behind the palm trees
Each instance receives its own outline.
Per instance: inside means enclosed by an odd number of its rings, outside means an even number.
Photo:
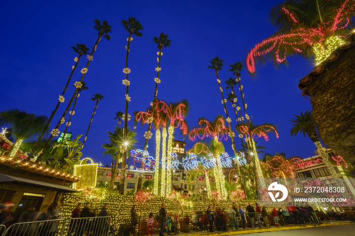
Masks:
[[[2,37],[0,48],[0,80],[2,92],[0,110],[18,108],[28,113],[49,116],[58,101],[66,78],[71,72],[77,56],[70,47],[86,44],[91,50],[97,32],[94,19],[108,20],[112,26],[111,41],[102,38],[93,55],[84,82],[89,90],[78,99],[76,113],[72,118],[74,136],[85,135],[94,101],[93,94],[100,93],[99,102],[91,125],[83,156],[96,162],[111,163],[111,156],[102,155],[101,145],[108,142],[107,131],[113,131],[117,120],[115,112],[124,111],[126,32],[122,19],[134,16],[143,25],[143,36],[133,36],[128,67],[130,86],[129,113],[145,110],[153,99],[157,48],[153,37],[160,32],[169,35],[171,46],[163,48],[161,58],[158,98],[168,102],[187,99],[190,110],[187,115],[189,128],[197,126],[199,117],[214,120],[224,115],[221,94],[215,71],[207,69],[208,61],[219,56],[224,60],[220,80],[226,81],[231,72],[229,64],[241,61],[241,83],[247,103],[247,112],[255,124],[277,125],[279,138],[273,134],[265,142],[259,138],[265,152],[286,152],[288,157],[307,158],[314,154],[315,146],[308,137],[291,137],[290,120],[294,114],[311,109],[311,104],[301,96],[297,88],[299,80],[312,70],[305,58],[289,58],[290,66],[275,69],[271,62],[257,67],[251,77],[245,66],[248,50],[275,28],[268,21],[268,12],[280,1],[7,1],[2,4],[0,18]],[[54,127],[74,92],[72,86],[81,77],[80,68],[85,67],[86,58],[79,63],[70,89],[65,93],[65,102],[54,117]],[[226,87],[223,84],[223,89]],[[227,94],[224,89],[224,94]],[[239,94],[239,100],[240,94]],[[230,104],[232,127],[236,125]],[[68,115],[68,114],[67,114]],[[66,117],[67,120],[67,117]],[[133,127],[133,119],[128,123]],[[137,126],[137,147],[143,148],[147,127]],[[0,127],[1,128],[1,127]],[[64,125],[59,127],[60,131]],[[182,140],[180,131],[176,139]],[[155,152],[154,137],[149,151]],[[235,140],[239,146],[240,141]],[[231,141],[225,141],[227,151],[232,154]],[[193,142],[188,142],[191,148]],[[154,149],[153,149],[154,148]]]

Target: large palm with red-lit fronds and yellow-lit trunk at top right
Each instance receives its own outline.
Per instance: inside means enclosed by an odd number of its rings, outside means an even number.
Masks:
[[[286,63],[286,57],[300,54],[322,63],[353,30],[353,1],[301,0],[285,1],[270,10],[276,32],[248,53],[249,72],[256,64],[273,60]],[[349,22],[352,22],[349,23]],[[321,53],[322,51],[330,51]]]

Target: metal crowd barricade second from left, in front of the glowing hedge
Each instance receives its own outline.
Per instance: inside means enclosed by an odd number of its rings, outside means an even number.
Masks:
[[[114,233],[110,216],[70,218],[65,221],[60,235],[63,236],[104,236]]]

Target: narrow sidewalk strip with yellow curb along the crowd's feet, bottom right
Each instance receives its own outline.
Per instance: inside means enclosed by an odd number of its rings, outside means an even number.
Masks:
[[[302,225],[292,225],[292,226],[270,226],[263,227],[263,228],[247,228],[247,229],[239,229],[239,230],[230,230],[230,231],[215,231],[215,232],[202,232],[202,231],[192,231],[190,230],[188,233],[180,232],[180,235],[208,235],[208,236],[219,236],[219,235],[234,235],[234,234],[243,234],[243,233],[256,233],[256,232],[272,232],[272,231],[280,231],[280,230],[290,230],[290,229],[307,229],[307,228],[314,228],[314,227],[323,227],[323,226],[334,226],[334,225],[347,225],[351,224],[351,234],[354,235],[355,229],[355,222],[354,221],[324,221],[320,224],[302,224]],[[325,228],[326,229],[326,228]],[[299,234],[300,232],[298,232]],[[288,231],[289,234],[289,231]],[[305,234],[308,235],[308,234]],[[333,235],[347,235],[347,234],[334,234]]]

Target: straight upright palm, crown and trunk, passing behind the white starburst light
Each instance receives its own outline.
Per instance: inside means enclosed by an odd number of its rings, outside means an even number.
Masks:
[[[128,122],[128,102],[130,101],[130,97],[128,96],[128,86],[129,86],[129,80],[128,80],[128,73],[130,73],[130,69],[128,68],[128,53],[129,53],[129,46],[130,43],[132,41],[132,34],[134,34],[135,36],[141,37],[143,34],[141,32],[139,32],[140,30],[143,30],[142,25],[139,23],[139,21],[137,21],[135,19],[135,17],[128,17],[128,21],[126,20],[122,20],[121,21],[123,27],[128,31],[128,44],[126,47],[126,67],[123,69],[123,72],[126,74],[126,80],[123,81],[124,85],[126,86],[126,102],[125,102],[125,112],[124,112],[124,127],[123,127],[123,133],[124,133],[124,138],[127,138],[127,122]],[[124,157],[122,160],[122,168],[126,165],[126,156],[125,156],[125,152],[123,153]],[[122,169],[122,171],[125,171],[125,169]],[[121,175],[121,184],[124,184],[124,178],[125,175]],[[123,186],[123,185],[122,185]],[[121,189],[121,194],[124,193],[124,188]]]

